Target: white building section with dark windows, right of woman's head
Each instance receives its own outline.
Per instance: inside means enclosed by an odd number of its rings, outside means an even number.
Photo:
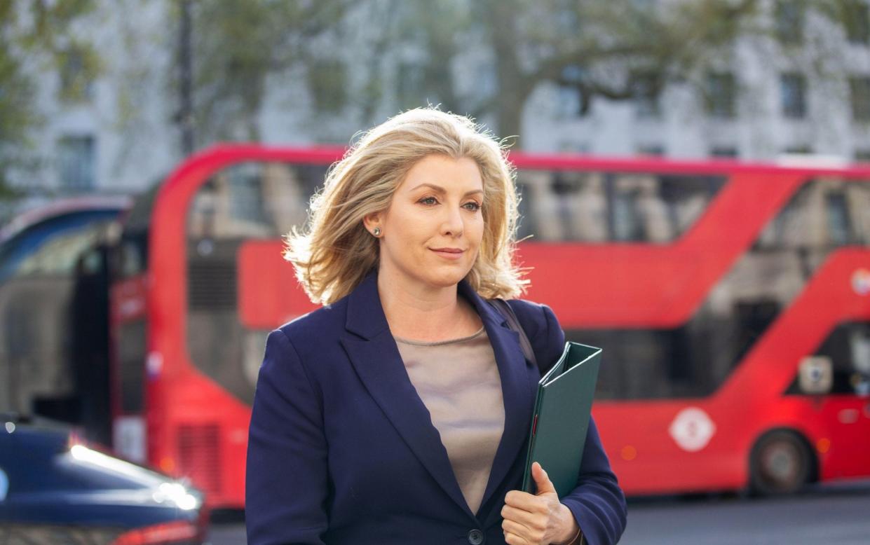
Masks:
[[[797,4],[767,2],[760,26],[771,35],[724,52],[695,86],[670,85],[661,96],[634,103],[593,101],[580,115],[576,90],[540,85],[525,109],[526,148],[746,161],[812,153],[870,161],[870,6],[860,0],[857,16],[838,24],[812,10],[801,15]]]

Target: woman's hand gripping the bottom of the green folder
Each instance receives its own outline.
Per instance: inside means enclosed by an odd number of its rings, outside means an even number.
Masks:
[[[501,509],[505,542],[510,545],[567,542],[579,530],[574,515],[559,502],[550,477],[538,462],[532,463],[532,478],[538,485],[538,494],[511,490],[505,495],[505,507]]]

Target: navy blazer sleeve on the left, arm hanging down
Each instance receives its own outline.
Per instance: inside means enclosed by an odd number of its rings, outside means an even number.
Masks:
[[[248,436],[245,525],[251,545],[323,544],[328,468],[321,407],[290,339],[272,331]]]

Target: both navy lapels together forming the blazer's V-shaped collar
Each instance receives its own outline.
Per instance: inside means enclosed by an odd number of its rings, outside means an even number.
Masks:
[[[468,282],[459,282],[458,294],[472,303],[484,323],[499,366],[505,402],[505,429],[492,462],[489,482],[481,502],[483,509],[492,494],[499,489],[519,450],[525,445],[539,374],[531,363],[525,361],[519,335],[507,327],[505,318],[498,310],[478,296]],[[473,517],[459,489],[438,430],[432,425],[429,410],[420,400],[399,356],[378,296],[377,272],[371,272],[351,292],[345,328],[354,336],[345,336],[341,342],[365,388],[438,485],[467,515]]]

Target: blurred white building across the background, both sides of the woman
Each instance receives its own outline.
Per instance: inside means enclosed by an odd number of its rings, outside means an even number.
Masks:
[[[137,192],[183,159],[173,122],[177,32],[169,28],[171,17],[165,3],[135,3],[135,17],[118,5],[104,3],[97,16],[79,22],[104,54],[104,73],[83,102],[57,98],[63,77],[39,76],[48,120],[40,141],[49,162],[36,183],[59,193]],[[698,86],[671,85],[661,96],[633,102],[596,99],[581,114],[576,90],[541,83],[522,116],[525,150],[747,161],[813,153],[870,161],[870,2],[860,0],[858,16],[845,25],[812,11],[801,17],[794,2],[766,5],[762,23],[774,36],[746,38],[713,63],[715,70],[699,74],[706,97]],[[352,78],[371,49],[345,44],[344,50]],[[479,50],[468,55],[459,70],[476,70],[491,56]],[[413,77],[413,70],[403,70],[413,58],[413,51],[402,51],[368,60],[385,74],[386,87],[398,89],[403,78]],[[815,68],[810,73],[805,67]],[[365,129],[345,110],[312,123],[308,112],[316,97],[303,81],[298,71],[268,81],[258,118],[264,143],[346,143]],[[395,94],[383,97],[376,109],[380,119],[401,105]]]

